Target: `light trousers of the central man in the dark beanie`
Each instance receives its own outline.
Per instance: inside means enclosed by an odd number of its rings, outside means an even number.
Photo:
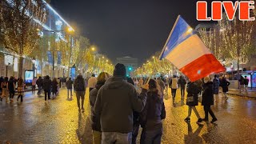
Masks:
[[[102,132],[102,144],[131,144],[132,133]]]

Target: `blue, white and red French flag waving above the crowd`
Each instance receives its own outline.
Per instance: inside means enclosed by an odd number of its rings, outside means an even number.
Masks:
[[[226,71],[180,15],[159,58],[168,59],[191,82],[209,74]]]

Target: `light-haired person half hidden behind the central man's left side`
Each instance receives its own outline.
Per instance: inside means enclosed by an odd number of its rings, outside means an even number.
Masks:
[[[102,130],[100,123],[100,115],[94,113],[94,105],[96,102],[98,90],[105,84],[106,79],[110,77],[110,74],[102,72],[98,74],[97,84],[93,90],[90,90],[90,110],[91,110],[91,128],[93,130],[93,142],[94,144],[101,144],[102,142]]]

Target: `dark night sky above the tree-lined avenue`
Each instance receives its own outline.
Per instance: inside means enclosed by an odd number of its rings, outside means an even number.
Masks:
[[[178,14],[198,25],[196,0],[51,0],[76,32],[110,60],[123,56],[146,61],[161,51]],[[209,1],[211,2],[211,1]],[[210,3],[209,3],[210,5]]]

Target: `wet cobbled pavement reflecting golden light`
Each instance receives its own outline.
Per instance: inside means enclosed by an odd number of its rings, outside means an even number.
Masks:
[[[87,90],[88,92],[88,90]],[[202,122],[192,112],[191,122],[184,122],[187,106],[166,98],[166,120],[162,143],[256,143],[256,101],[219,94],[212,107],[218,121]],[[16,97],[16,96],[15,96]],[[16,97],[17,98],[17,97]],[[44,97],[26,93],[24,102],[0,102],[0,144],[10,143],[92,143],[90,106],[86,94],[86,111],[79,113],[76,99],[66,99],[66,89],[57,98],[45,102]],[[184,105],[184,106],[183,106]],[[203,117],[202,106],[197,106]],[[211,120],[211,118],[210,118]],[[138,138],[139,140],[139,138]]]

